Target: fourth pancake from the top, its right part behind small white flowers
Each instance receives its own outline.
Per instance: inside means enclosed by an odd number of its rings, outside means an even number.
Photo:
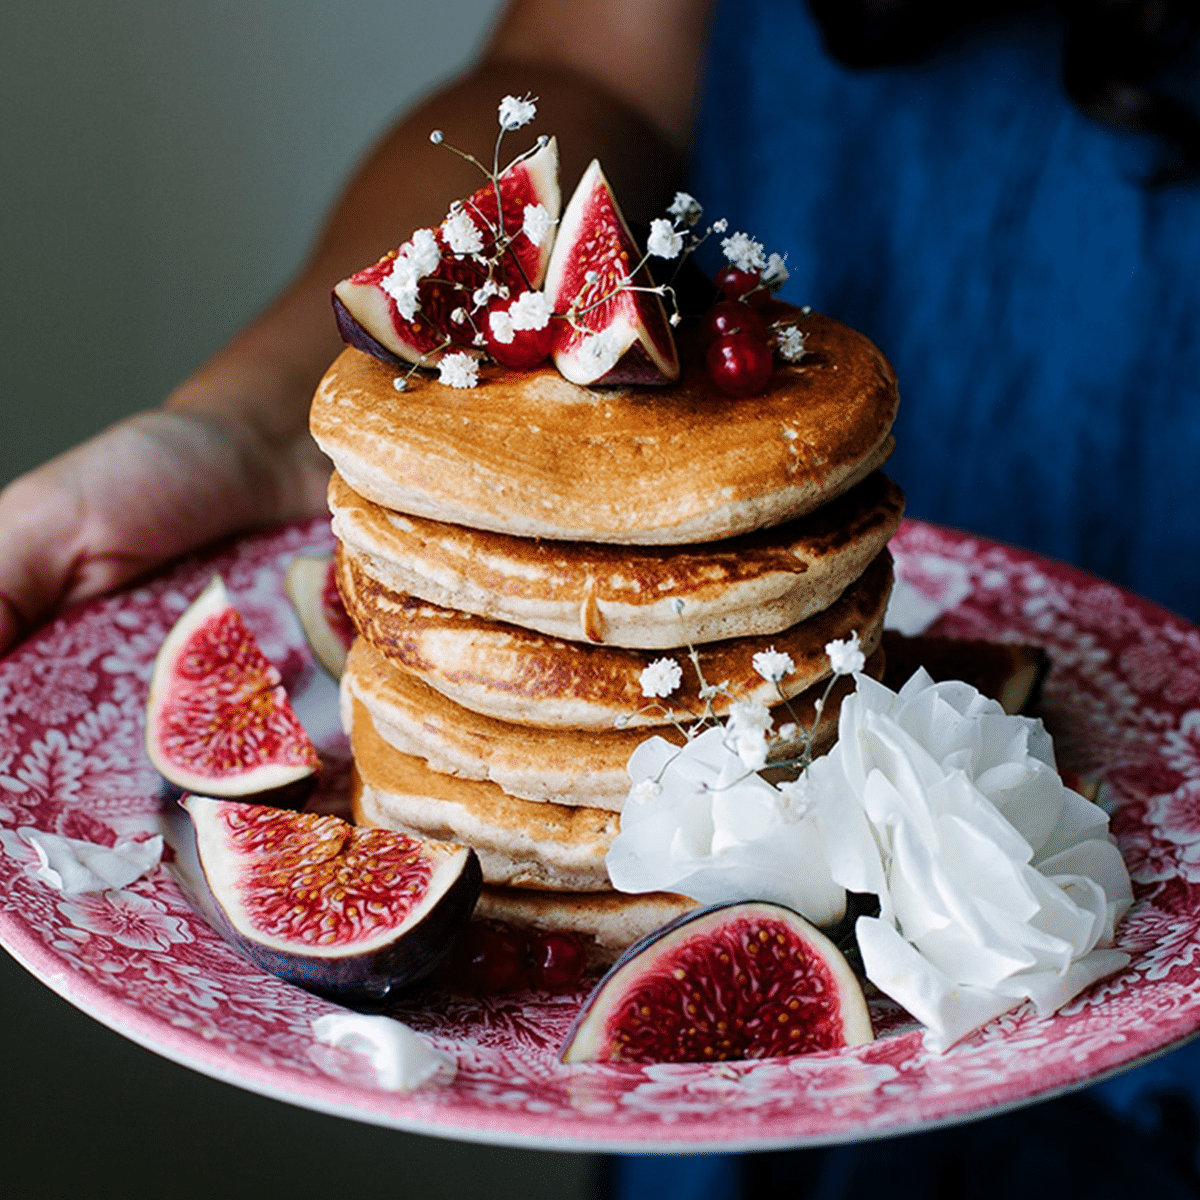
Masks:
[[[878,678],[883,652],[876,650],[866,672]],[[841,679],[821,712],[815,752],[822,754],[838,734],[841,698],[853,686]],[[775,710],[776,725],[799,721],[812,725],[814,702],[824,684],[802,692],[791,702],[792,712]],[[608,809],[619,812],[629,793],[625,764],[652,732],[676,744],[683,734],[673,726],[654,731],[536,730],[510,725],[472,713],[446,700],[415,676],[391,666],[364,638],[350,648],[342,674],[342,713],[347,730],[353,725],[358,701],[370,714],[379,734],[395,750],[425,761],[430,769],[461,779],[488,780],[518,799],[569,806]],[[775,757],[798,752],[796,743],[784,744]]]

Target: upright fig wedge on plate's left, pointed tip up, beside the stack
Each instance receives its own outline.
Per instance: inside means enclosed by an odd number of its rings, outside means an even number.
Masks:
[[[185,792],[299,808],[316,782],[317,750],[220,576],[158,649],[146,754]]]

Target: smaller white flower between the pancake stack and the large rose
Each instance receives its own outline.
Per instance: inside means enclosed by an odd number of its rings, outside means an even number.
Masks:
[[[748,769],[734,725],[683,748],[655,737],[634,751],[634,786],[606,859],[613,887],[678,892],[701,904],[774,900],[815,924],[836,923],[846,894],[830,876],[816,821]]]

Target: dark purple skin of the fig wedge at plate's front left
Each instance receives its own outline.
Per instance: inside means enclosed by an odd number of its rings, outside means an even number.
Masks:
[[[187,809],[191,799],[180,802]],[[188,810],[191,816],[191,810]],[[338,1003],[373,1008],[384,1001],[427,978],[450,953],[454,940],[462,929],[479,900],[484,883],[479,857],[468,851],[462,869],[436,904],[420,920],[390,941],[367,950],[348,948],[344,954],[317,955],[296,944],[294,950],[283,950],[264,944],[238,929],[210,881],[210,865],[199,851],[196,818],[187,822],[192,847],[199,862],[200,896],[204,914],[216,931],[245,958],[270,974],[287,983],[304,988],[314,995]]]

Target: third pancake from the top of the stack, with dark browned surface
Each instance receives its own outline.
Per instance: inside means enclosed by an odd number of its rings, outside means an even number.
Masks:
[[[612,730],[671,720],[665,702],[642,695],[641,673],[662,656],[659,652],[584,646],[431,605],[364,575],[341,547],[337,583],[359,632],[389,662],[463,708],[542,728]],[[781,684],[788,697],[829,676],[827,642],[858,632],[864,653],[872,653],[890,587],[892,558],[883,551],[824,612],[773,637],[731,638],[702,647],[698,659],[704,678],[709,684],[727,684],[731,694],[715,696],[713,710],[728,712],[731,696],[779,702],[775,685],[754,670],[760,650],[774,647],[791,655],[796,670]],[[683,667],[683,682],[668,697],[670,704],[700,715],[700,682],[688,652],[667,656]]]

